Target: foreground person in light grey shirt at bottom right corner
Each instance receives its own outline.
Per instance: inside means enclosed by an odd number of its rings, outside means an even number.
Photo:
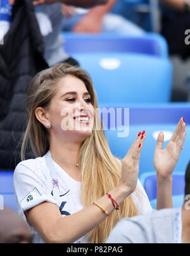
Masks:
[[[185,184],[182,207],[122,219],[106,243],[190,243],[190,162]]]

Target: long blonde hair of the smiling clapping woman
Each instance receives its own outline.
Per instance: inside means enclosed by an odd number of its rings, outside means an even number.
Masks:
[[[91,95],[94,109],[98,108],[96,93],[91,77],[80,67],[68,64],[57,64],[39,72],[31,81],[27,95],[27,129],[25,131],[21,156],[25,159],[25,151],[29,144],[35,156],[44,156],[49,150],[49,135],[46,128],[35,117],[37,107],[48,107],[56,93],[56,84],[67,75],[82,80]],[[103,129],[96,129],[101,123],[100,116],[94,119],[94,129],[80,147],[79,163],[82,176],[81,196],[84,206],[89,206],[106,192],[114,189],[121,178],[121,165],[111,154]],[[120,210],[112,212],[101,224],[88,234],[91,243],[105,243],[111,229],[122,217],[137,215],[137,208],[132,196],[128,196],[120,205]],[[90,216],[89,216],[90,218]]]

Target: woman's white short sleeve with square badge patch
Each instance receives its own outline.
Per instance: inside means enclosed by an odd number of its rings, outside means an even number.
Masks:
[[[22,162],[16,166],[14,172],[14,187],[19,212],[23,213],[44,201],[56,204],[51,194],[48,175],[34,167],[23,165]]]

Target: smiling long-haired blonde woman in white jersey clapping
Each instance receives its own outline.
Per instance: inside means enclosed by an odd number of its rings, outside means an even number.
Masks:
[[[98,128],[97,107],[91,79],[79,67],[57,64],[30,83],[23,161],[16,166],[14,184],[18,210],[34,242],[104,243],[120,218],[151,210],[138,180],[146,132],[139,132],[119,161]],[[181,118],[164,150],[163,133],[158,136],[158,208],[172,207],[172,172],[185,131]],[[37,158],[24,160],[28,144]]]

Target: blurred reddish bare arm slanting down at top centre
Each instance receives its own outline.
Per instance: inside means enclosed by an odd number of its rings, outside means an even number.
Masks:
[[[108,3],[102,6],[91,8],[84,17],[73,27],[73,32],[78,33],[98,33],[102,30],[103,17],[109,13],[117,0],[108,0]]]

